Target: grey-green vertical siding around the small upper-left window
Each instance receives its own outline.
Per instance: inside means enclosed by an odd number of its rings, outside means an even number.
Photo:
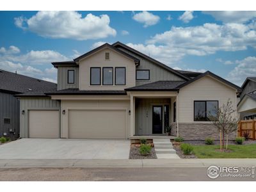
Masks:
[[[75,83],[68,84],[68,70],[75,70]],[[58,67],[57,90],[79,88],[79,67]]]

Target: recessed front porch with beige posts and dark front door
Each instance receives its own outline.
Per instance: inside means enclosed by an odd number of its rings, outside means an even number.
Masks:
[[[130,92],[130,140],[173,139],[179,135],[177,92]],[[175,124],[172,136],[165,127]]]

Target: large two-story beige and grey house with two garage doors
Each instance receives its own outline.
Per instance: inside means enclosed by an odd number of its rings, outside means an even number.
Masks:
[[[120,42],[52,65],[56,90],[17,96],[22,138],[125,139],[163,135],[166,125],[186,140],[218,138],[207,115],[228,99],[236,109],[241,92],[209,71],[174,70]]]

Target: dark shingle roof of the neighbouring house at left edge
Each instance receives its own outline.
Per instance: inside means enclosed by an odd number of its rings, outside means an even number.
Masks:
[[[56,89],[56,83],[0,70],[0,90],[3,92],[28,93],[30,95],[36,92],[37,95],[42,95],[44,92]]]

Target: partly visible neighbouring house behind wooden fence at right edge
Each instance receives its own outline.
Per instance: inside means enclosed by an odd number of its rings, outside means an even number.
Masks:
[[[240,120],[256,119],[256,77],[247,77],[237,105]]]

